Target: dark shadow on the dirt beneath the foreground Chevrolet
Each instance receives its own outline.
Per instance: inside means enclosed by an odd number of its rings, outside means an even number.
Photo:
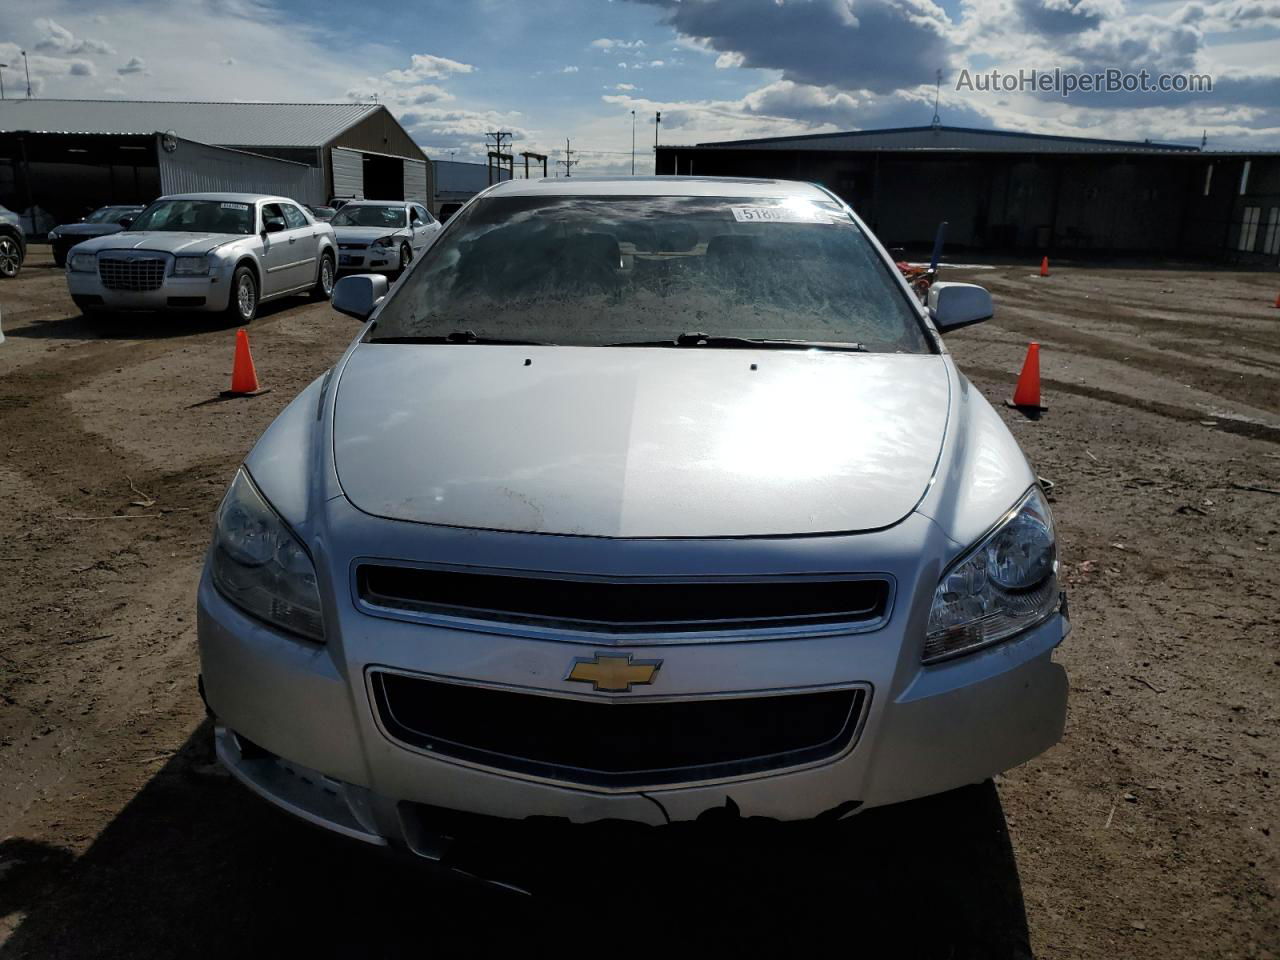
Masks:
[[[989,782],[841,824],[561,828],[526,896],[297,823],[210,773],[209,739],[206,723],[78,859],[5,841],[0,864],[18,865],[0,909],[17,929],[0,957],[399,957],[506,941],[1030,956]]]

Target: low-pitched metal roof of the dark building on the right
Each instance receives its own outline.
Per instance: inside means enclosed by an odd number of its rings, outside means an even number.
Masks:
[[[669,147],[663,145],[666,148]],[[840,133],[806,133],[795,137],[759,137],[698,143],[704,150],[946,150],[986,152],[1052,152],[1052,154],[1198,154],[1198,146],[1152,143],[1134,140],[1096,140],[1092,137],[1060,137],[1047,133],[1018,131],[983,131],[972,127],[892,127]],[[689,147],[682,147],[687,150]]]

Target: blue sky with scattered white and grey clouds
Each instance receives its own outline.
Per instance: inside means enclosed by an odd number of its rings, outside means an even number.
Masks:
[[[8,96],[376,97],[434,157],[484,133],[636,170],[662,140],[928,124],[1280,147],[1280,0],[0,0]],[[963,70],[1204,73],[1211,93],[957,91]]]

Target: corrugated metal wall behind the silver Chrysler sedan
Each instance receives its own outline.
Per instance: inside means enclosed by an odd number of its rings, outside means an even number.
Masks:
[[[302,204],[325,201],[319,168],[191,140],[178,138],[177,143],[173,152],[163,145],[156,148],[163,193],[276,193]]]

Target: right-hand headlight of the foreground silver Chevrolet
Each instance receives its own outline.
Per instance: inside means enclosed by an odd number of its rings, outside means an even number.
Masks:
[[[929,611],[924,662],[1020,634],[1047,620],[1057,599],[1053,517],[1037,486],[943,573]]]

